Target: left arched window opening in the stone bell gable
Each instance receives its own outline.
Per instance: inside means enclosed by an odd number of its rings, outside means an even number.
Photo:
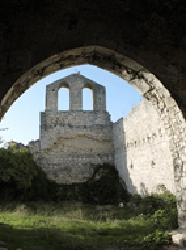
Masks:
[[[61,87],[58,91],[58,110],[69,110],[69,89]]]

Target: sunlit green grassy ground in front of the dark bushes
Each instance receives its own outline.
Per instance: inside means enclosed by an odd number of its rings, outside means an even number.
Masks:
[[[155,229],[151,217],[137,216],[128,206],[0,204],[0,241],[8,250],[150,249],[142,243]]]

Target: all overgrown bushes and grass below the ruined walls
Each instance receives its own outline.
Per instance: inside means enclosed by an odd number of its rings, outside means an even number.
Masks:
[[[150,250],[172,243],[168,231],[178,228],[174,195],[131,196],[114,166],[91,165],[94,173],[84,183],[59,185],[27,149],[0,150],[0,240],[9,250]],[[73,200],[84,205],[64,205]],[[121,201],[124,207],[118,207]]]

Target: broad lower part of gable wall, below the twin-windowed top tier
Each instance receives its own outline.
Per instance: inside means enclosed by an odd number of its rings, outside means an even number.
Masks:
[[[114,163],[107,112],[47,112],[42,128],[41,166],[57,182],[79,182],[91,173],[89,163]],[[45,128],[44,128],[45,127]]]

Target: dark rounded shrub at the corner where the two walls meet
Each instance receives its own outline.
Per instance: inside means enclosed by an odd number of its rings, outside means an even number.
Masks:
[[[84,203],[100,205],[118,205],[120,201],[129,200],[126,185],[110,163],[93,166],[93,174],[81,186],[80,196]]]

